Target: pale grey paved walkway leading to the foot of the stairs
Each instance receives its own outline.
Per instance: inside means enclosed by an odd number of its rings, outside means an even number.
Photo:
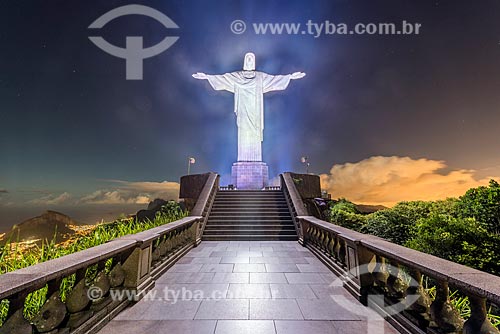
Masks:
[[[374,312],[335,280],[295,241],[204,241],[100,334],[367,333]]]

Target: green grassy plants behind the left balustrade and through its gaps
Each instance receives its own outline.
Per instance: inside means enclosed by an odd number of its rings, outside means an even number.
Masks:
[[[82,234],[77,234],[70,240],[56,244],[55,238],[51,241],[45,240],[41,246],[33,244],[32,247],[26,248],[19,243],[8,242],[4,247],[0,248],[0,274],[10,271],[25,268],[37,263],[56,259],[64,255],[76,253],[90,247],[104,244],[115,238],[122,237],[127,234],[142,232],[153,227],[168,224],[172,221],[181,219],[187,215],[175,201],[170,201],[162,206],[157,212],[154,220],[146,220],[143,222],[129,219],[117,220],[111,223],[97,225],[94,229],[86,231]],[[108,269],[110,266],[108,261]],[[97,275],[97,267],[91,266],[87,268],[86,277],[91,280]],[[60,294],[62,300],[69,291],[71,291],[75,283],[75,275],[71,275],[63,279],[60,286]],[[24,314],[27,319],[32,319],[43,306],[46,301],[47,287],[34,291],[29,294],[25,301]],[[8,302],[3,300],[0,302],[0,326],[7,316]]]

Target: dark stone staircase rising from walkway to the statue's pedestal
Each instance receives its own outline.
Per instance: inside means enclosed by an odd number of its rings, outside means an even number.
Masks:
[[[203,240],[297,240],[281,190],[218,191]]]

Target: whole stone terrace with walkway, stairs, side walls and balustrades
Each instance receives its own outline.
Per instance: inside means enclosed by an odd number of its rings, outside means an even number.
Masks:
[[[183,177],[190,216],[0,275],[0,334],[499,333],[500,277],[321,220],[319,178],[280,179]],[[28,320],[33,292],[47,301]]]

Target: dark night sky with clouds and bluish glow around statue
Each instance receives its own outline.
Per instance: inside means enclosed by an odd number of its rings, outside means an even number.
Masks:
[[[107,11],[143,4],[179,29]],[[304,71],[265,95],[264,161],[323,174],[334,196],[391,204],[456,196],[500,176],[500,2],[0,0],[0,231],[58,209],[81,221],[175,196],[193,173],[229,182],[236,159],[233,95],[195,72]],[[247,31],[233,34],[236,19]],[[252,23],[401,23],[419,35],[257,35]],[[88,36],[146,46],[179,36],[125,80],[125,60]],[[332,168],[333,167],[333,168]],[[128,211],[127,211],[128,210]]]

